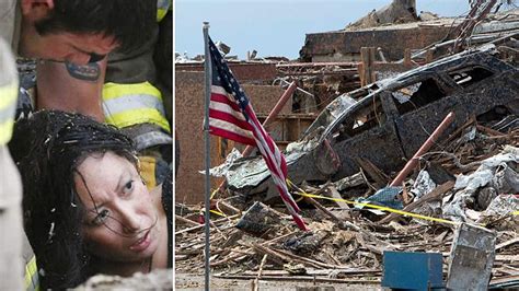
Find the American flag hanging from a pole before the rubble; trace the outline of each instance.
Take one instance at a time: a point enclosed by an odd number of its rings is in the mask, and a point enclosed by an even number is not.
[[[209,38],[209,53],[212,68],[211,98],[209,103],[209,132],[241,143],[255,146],[260,150],[282,201],[293,221],[301,230],[307,230],[298,214],[299,207],[288,193],[285,156],[257,120],[240,84],[232,75],[227,61]]]

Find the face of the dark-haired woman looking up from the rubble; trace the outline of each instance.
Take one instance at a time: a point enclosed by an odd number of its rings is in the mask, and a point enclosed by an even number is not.
[[[161,233],[158,211],[135,166],[106,152],[86,158],[77,172],[88,249],[111,261],[135,263],[152,256]]]

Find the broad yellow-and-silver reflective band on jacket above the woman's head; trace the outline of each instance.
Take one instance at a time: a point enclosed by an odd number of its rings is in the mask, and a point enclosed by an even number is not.
[[[139,124],[158,125],[171,132],[165,119],[162,94],[149,82],[137,84],[105,83],[103,86],[105,121],[118,128]]]

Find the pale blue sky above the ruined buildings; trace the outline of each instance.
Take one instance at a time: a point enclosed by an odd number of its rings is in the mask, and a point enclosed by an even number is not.
[[[305,34],[338,31],[382,8],[391,0],[176,0],[175,51],[194,57],[204,54],[203,22],[208,21],[214,42],[231,47],[229,55],[245,59],[284,56],[297,59]],[[416,10],[440,16],[469,11],[469,0],[416,0]]]

